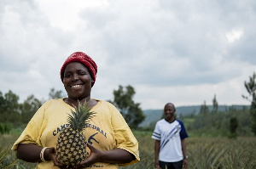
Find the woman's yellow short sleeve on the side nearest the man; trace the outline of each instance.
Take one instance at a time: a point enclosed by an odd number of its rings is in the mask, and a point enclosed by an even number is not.
[[[109,104],[109,109],[112,112],[111,123],[113,127],[116,148],[125,149],[136,157],[136,160],[126,164],[118,164],[119,166],[128,166],[140,161],[138,142],[127,125],[123,115],[117,110],[113,104]]]

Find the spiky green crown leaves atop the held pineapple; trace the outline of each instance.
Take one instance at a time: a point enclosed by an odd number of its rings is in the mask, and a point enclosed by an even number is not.
[[[73,130],[82,132],[96,112],[90,111],[90,105],[86,106],[86,102],[84,104],[79,102],[79,108],[75,105],[73,107],[75,111],[71,110],[72,115],[68,114],[67,121]]]

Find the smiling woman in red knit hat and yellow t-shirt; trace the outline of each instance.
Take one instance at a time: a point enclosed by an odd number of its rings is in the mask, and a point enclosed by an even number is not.
[[[106,101],[91,99],[97,66],[87,54],[71,54],[61,67],[61,82],[67,98],[52,99],[42,105],[13,146],[17,158],[38,162],[37,168],[68,168],[55,158],[55,147],[67,114],[86,103],[96,112],[85,129],[87,157],[76,168],[118,168],[139,161],[138,143],[119,111]],[[40,156],[41,155],[41,156]]]

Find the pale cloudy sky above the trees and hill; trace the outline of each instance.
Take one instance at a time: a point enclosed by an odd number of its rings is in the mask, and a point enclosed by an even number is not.
[[[61,65],[83,51],[98,65],[92,98],[131,85],[143,110],[250,104],[255,30],[254,0],[1,0],[0,91],[65,93]]]

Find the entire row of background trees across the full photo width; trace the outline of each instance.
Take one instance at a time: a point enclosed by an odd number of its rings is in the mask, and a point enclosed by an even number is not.
[[[243,131],[240,132],[247,132],[248,128],[250,128],[253,134],[256,135],[256,74],[253,73],[253,76],[249,76],[249,81],[244,82],[244,85],[248,95],[242,95],[242,97],[251,102],[249,110],[219,112],[218,101],[216,95],[214,95],[211,111],[208,109],[206,102],[204,102],[198,115],[191,114],[190,117],[183,117],[193,120],[189,123],[189,128],[204,132],[229,128],[230,134],[236,136],[236,130],[240,125],[244,127]],[[119,86],[117,90],[113,90],[113,100],[108,100],[117,107],[132,129],[137,129],[139,124],[145,119],[140,104],[135,103],[133,100],[135,93],[135,89],[130,85],[126,87]],[[55,90],[55,88],[50,89],[49,99],[63,97],[62,91]],[[9,131],[9,124],[12,124],[14,127],[26,124],[45,102],[45,100],[35,98],[33,94],[28,96],[21,104],[18,101],[19,96],[11,90],[5,94],[0,91],[0,132]]]

